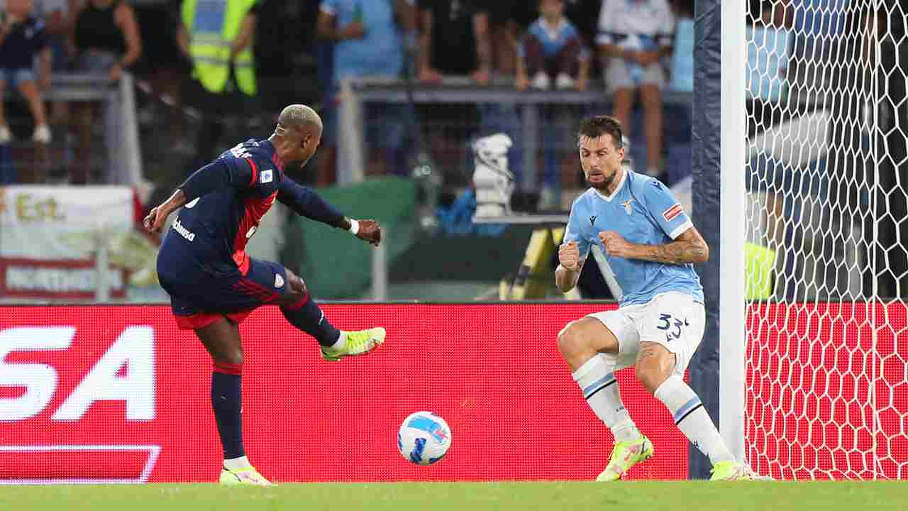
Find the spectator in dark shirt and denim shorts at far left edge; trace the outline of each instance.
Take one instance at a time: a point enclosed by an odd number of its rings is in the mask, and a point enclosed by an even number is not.
[[[50,86],[51,53],[44,23],[30,15],[32,7],[32,0],[6,1],[5,19],[0,22],[0,98],[5,94],[7,85],[18,89],[35,118],[32,139],[39,144],[47,144],[51,140],[51,131],[47,127],[39,88],[46,90]],[[35,55],[39,55],[41,61],[37,81]],[[0,144],[8,144],[11,139],[3,102],[0,101]]]

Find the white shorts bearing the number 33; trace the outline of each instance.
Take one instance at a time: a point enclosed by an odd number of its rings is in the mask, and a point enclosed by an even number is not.
[[[656,343],[676,356],[675,374],[684,376],[690,359],[703,340],[706,310],[694,297],[684,293],[656,295],[646,304],[623,306],[617,310],[597,312],[602,322],[618,340],[617,369],[634,366],[641,342]]]

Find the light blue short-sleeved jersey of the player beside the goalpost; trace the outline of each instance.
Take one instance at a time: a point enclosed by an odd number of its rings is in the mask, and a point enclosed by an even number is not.
[[[580,259],[586,259],[592,245],[603,254],[602,231],[615,231],[639,245],[666,245],[691,228],[675,196],[657,179],[626,170],[611,196],[590,188],[571,207],[565,242],[576,241]],[[703,287],[694,266],[666,265],[606,254],[618,286],[622,306],[645,304],[661,293],[677,291],[703,302]]]

